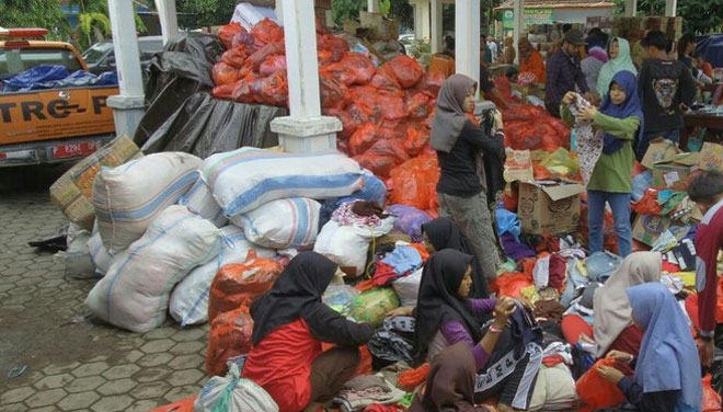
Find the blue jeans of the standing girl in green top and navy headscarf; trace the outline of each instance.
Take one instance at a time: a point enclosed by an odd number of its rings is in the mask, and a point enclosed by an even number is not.
[[[590,254],[602,251],[605,241],[605,204],[612,209],[615,232],[618,234],[618,252],[624,258],[632,251],[632,228],[630,225],[630,193],[587,191],[587,227]]]

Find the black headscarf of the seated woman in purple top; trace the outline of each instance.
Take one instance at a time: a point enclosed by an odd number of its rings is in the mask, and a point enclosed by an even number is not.
[[[414,322],[414,360],[426,360],[429,342],[439,328],[459,321],[474,342],[482,339],[481,325],[468,299],[457,295],[472,256],[454,249],[441,250],[429,258],[422,272]]]

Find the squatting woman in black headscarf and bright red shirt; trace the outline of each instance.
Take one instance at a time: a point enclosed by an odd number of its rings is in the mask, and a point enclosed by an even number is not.
[[[336,394],[357,367],[358,346],[375,332],[321,302],[335,272],[329,259],[299,253],[251,306],[253,348],[243,377],[263,387],[280,412],[298,412]],[[338,347],[322,353],[321,342]]]

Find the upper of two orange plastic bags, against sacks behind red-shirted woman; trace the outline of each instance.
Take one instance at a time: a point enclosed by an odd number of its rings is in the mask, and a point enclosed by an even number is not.
[[[220,313],[251,304],[274,286],[284,267],[272,259],[257,258],[251,250],[243,263],[222,266],[211,282],[208,322]]]

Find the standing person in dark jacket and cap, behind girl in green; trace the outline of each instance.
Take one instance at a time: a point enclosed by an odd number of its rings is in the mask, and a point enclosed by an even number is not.
[[[584,44],[583,33],[573,28],[565,33],[560,50],[548,59],[544,106],[558,118],[560,103],[567,92],[574,92],[577,87],[581,93],[588,93],[585,75],[579,67],[579,47]]]

